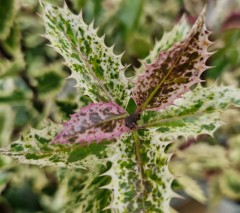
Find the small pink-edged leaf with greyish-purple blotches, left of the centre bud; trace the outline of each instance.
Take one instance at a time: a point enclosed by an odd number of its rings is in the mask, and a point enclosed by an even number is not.
[[[112,102],[94,103],[71,115],[53,143],[100,142],[119,137],[130,131],[125,126],[127,112]]]

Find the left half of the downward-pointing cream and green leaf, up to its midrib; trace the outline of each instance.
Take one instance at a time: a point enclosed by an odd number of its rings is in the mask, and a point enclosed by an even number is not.
[[[142,206],[142,178],[134,151],[132,133],[123,134],[116,143],[109,145],[108,160],[111,169],[103,175],[111,182],[103,188],[112,191],[108,207],[113,212],[140,212]]]

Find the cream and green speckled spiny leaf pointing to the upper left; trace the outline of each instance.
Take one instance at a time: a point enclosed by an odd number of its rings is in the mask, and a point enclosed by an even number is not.
[[[94,24],[84,23],[82,15],[74,15],[41,2],[48,38],[54,49],[72,70],[71,78],[84,88],[84,94],[97,101],[112,101],[125,107],[129,100],[122,55],[115,55],[113,47],[97,36]]]

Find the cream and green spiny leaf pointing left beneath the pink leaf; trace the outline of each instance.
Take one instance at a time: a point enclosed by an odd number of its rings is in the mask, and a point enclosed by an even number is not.
[[[42,130],[31,129],[30,133],[0,153],[16,159],[20,163],[39,166],[80,168],[91,170],[106,163],[106,143],[80,145],[52,145],[50,142],[60,131],[61,125],[46,123]]]

